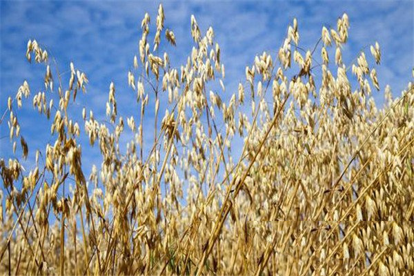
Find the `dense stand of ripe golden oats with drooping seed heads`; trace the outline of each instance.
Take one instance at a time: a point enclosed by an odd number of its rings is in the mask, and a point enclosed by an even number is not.
[[[174,51],[174,30],[162,6],[153,16],[141,21],[128,72],[137,112],[117,114],[111,83],[106,122],[88,107],[83,120],[70,112],[88,95],[88,72],[59,64],[70,72],[63,82],[28,41],[46,90],[25,81],[1,114],[23,155],[0,156],[1,275],[413,275],[414,86],[393,99],[377,79],[378,43],[344,64],[346,14],[321,26],[311,49],[293,19],[279,50],[252,57],[233,92],[213,28],[191,17],[193,49],[172,64],[157,49]],[[46,148],[21,135],[23,104],[48,117]],[[123,145],[126,128],[134,135]],[[90,175],[80,137],[101,154]],[[36,166],[24,170],[29,154]]]

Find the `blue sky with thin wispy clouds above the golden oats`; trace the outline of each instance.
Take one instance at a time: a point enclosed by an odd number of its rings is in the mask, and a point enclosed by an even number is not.
[[[135,103],[135,96],[127,86],[128,69],[137,55],[141,19],[148,12],[154,23],[158,4],[152,1],[1,1],[1,115],[7,98],[15,95],[25,79],[32,95],[44,90],[43,66],[30,64],[25,58],[28,39],[37,39],[46,46],[61,72],[67,71],[73,61],[76,68],[86,73],[90,81],[88,92],[79,95],[75,109],[80,111],[86,106],[87,110],[94,110],[95,117],[105,117],[105,102],[113,81],[119,113],[124,117],[137,115],[136,106],[130,104],[131,99]],[[206,32],[208,26],[215,30],[215,40],[221,46],[222,61],[226,65],[226,91],[233,92],[238,81],[244,80],[245,67],[251,65],[255,55],[266,50],[275,57],[293,17],[299,21],[299,45],[313,48],[322,26],[336,26],[337,18],[346,12],[351,23],[350,39],[343,51],[346,63],[365,46],[375,41],[380,43],[382,64],[377,67],[377,74],[382,92],[375,92],[375,97],[377,103],[382,103],[385,84],[390,84],[393,95],[398,96],[412,80],[413,8],[413,1],[167,1],[164,3],[165,26],[175,32],[177,48],[166,50],[174,66],[186,59],[193,46],[190,15],[195,14],[201,32]],[[371,56],[368,48],[366,54]],[[50,125],[33,110],[31,100],[23,102],[17,115],[32,158],[37,148],[44,150],[46,142],[51,141]],[[83,123],[79,123],[83,130]],[[13,156],[8,133],[7,121],[4,121],[0,125],[0,157],[6,159]],[[97,153],[84,152],[84,157],[86,161],[95,161]],[[17,157],[20,156],[18,151]]]

